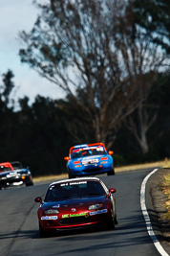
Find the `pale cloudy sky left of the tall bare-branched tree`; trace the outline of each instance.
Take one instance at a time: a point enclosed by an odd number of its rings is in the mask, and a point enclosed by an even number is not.
[[[17,101],[28,96],[30,104],[37,95],[51,99],[64,97],[55,84],[41,78],[28,64],[21,63],[18,55],[23,47],[18,33],[32,30],[37,13],[32,0],[0,0],[0,75],[10,69],[15,84],[12,98]]]

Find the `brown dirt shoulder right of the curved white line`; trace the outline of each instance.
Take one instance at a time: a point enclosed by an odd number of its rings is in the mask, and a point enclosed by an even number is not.
[[[168,197],[163,193],[162,187],[163,176],[169,174],[170,169],[159,169],[158,172],[151,176],[148,191],[151,205],[149,215],[154,231],[160,244],[170,254],[170,221],[163,220],[164,214],[167,213],[164,204],[168,201]]]

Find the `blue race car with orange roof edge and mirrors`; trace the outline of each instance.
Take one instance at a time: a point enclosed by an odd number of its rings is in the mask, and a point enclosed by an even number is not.
[[[103,143],[82,144],[72,147],[67,160],[69,178],[83,175],[115,175],[113,151],[106,151]]]

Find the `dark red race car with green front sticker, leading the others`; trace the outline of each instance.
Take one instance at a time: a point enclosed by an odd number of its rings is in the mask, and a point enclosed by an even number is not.
[[[108,189],[97,177],[81,177],[53,182],[37,210],[40,237],[53,231],[94,224],[115,228],[116,189]]]

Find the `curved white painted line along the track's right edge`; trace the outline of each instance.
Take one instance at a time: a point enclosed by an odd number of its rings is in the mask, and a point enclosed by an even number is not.
[[[161,246],[161,244],[159,244],[159,240],[157,239],[154,230],[152,228],[152,224],[149,218],[149,214],[147,212],[146,209],[146,202],[145,202],[145,198],[146,198],[146,183],[149,179],[149,177],[151,175],[154,175],[159,169],[154,169],[149,175],[145,176],[145,178],[142,181],[141,184],[141,189],[140,189],[140,206],[141,206],[141,211],[144,217],[144,220],[146,222],[146,227],[147,227],[147,231],[149,236],[151,237],[153,243],[155,244],[156,248],[158,249],[159,253],[161,256],[169,256],[169,254],[167,254],[167,252],[163,249],[163,247]]]

